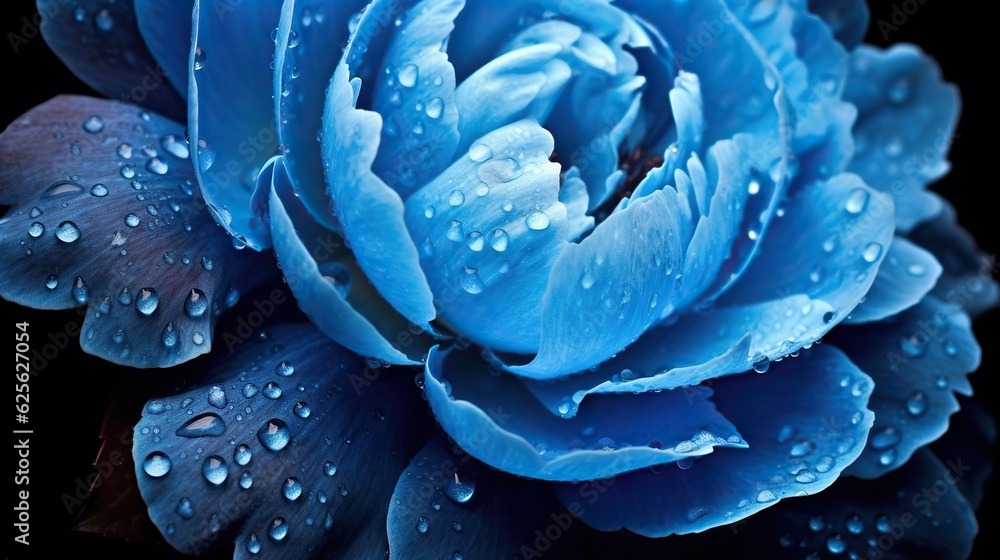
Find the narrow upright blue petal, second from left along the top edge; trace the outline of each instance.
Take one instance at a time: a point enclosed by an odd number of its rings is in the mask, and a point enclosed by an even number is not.
[[[326,189],[317,188],[324,184],[317,131],[321,130],[326,88],[341,56],[340,49],[330,46],[347,42],[346,22],[365,4],[365,0],[319,5],[288,0],[278,23],[274,100],[285,169],[313,219],[333,231],[339,225],[330,198]],[[288,48],[293,42],[296,46]]]

